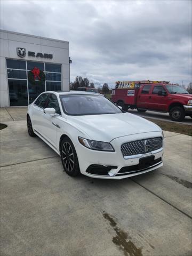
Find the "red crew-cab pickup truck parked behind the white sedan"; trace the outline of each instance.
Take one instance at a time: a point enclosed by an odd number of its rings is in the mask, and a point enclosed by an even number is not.
[[[113,89],[111,100],[125,111],[137,108],[140,112],[169,112],[173,121],[192,118],[192,94],[179,85],[153,83],[136,89],[117,88]]]

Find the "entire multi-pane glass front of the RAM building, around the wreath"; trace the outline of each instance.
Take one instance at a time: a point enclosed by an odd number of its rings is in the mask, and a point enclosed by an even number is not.
[[[59,64],[6,59],[6,65],[10,106],[27,106],[45,89],[46,91],[61,90],[61,65]],[[46,80],[41,85],[30,84],[27,79],[28,71],[34,67],[44,71],[46,75]]]

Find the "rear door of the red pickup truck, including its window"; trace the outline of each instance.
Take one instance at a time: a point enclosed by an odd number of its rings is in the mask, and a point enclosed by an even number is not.
[[[141,87],[138,99],[137,99],[137,107],[149,109],[149,92],[151,89],[151,84],[145,84]]]

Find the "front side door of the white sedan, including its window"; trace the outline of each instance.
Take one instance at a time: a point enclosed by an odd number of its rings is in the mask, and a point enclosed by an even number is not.
[[[57,95],[48,93],[45,108],[54,108],[55,113],[58,114],[58,116],[52,116],[43,113],[43,122],[41,124],[41,132],[43,137],[49,141],[53,147],[56,147],[57,130],[60,128],[60,126],[57,124],[57,118],[61,116]]]

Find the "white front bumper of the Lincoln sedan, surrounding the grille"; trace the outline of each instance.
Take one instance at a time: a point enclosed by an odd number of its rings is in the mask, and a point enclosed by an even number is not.
[[[85,148],[79,143],[76,145],[76,151],[81,173],[93,178],[123,179],[153,171],[163,165],[163,148],[154,151],[153,153],[125,159],[121,152],[121,145],[124,142],[159,136],[162,136],[161,132],[150,132],[114,139],[110,143],[114,147],[115,152],[95,151]],[[146,156],[154,156],[154,161],[156,162],[141,168],[139,165],[140,158]],[[99,172],[97,172],[97,170],[99,170]]]

